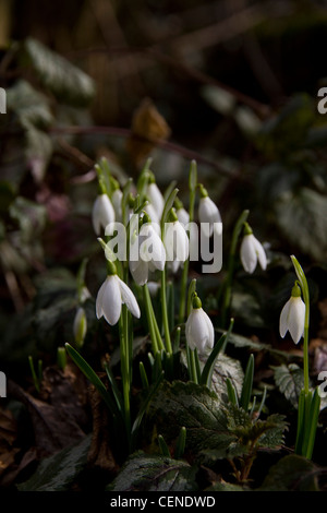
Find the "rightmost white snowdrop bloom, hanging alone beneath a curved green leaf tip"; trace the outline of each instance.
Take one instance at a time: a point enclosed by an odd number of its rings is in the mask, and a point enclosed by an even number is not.
[[[292,288],[290,299],[283,306],[279,319],[279,333],[283,338],[289,331],[294,344],[298,344],[304,332],[305,305],[301,299],[298,284]]]

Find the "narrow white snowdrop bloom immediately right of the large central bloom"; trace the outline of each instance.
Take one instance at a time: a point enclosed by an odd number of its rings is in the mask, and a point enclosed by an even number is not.
[[[164,243],[167,261],[172,262],[173,270],[177,271],[180,263],[189,258],[189,237],[173,208],[170,211],[168,223],[165,224]]]

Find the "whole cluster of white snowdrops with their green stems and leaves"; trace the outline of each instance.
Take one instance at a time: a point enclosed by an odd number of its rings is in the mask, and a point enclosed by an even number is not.
[[[135,184],[132,179],[121,187],[112,176],[108,162],[102,158],[95,166],[99,193],[94,202],[92,220],[95,234],[105,253],[107,277],[96,298],[96,315],[109,325],[119,325],[121,360],[121,389],[107,367],[112,394],[108,395],[96,373],[89,368],[76,348],[81,348],[87,331],[83,302],[88,297],[86,286],[81,288],[80,307],[74,320],[75,347],[66,344],[66,350],[87,378],[96,385],[111,414],[120,417],[120,428],[126,442],[133,443],[133,433],[142,421],[142,411],[136,419],[131,415],[131,386],[133,363],[133,318],[145,314],[152,345],[149,359],[156,372],[149,377],[141,362],[140,374],[144,387],[152,393],[162,375],[173,374],[173,355],[179,348],[181,331],[184,330],[186,361],[190,381],[210,386],[213,368],[219,350],[226,344],[232,329],[229,318],[233,262],[238,256],[244,271],[253,273],[257,265],[267,267],[264,246],[254,236],[247,223],[249,211],[242,212],[232,234],[228,272],[223,286],[222,319],[229,323],[226,333],[215,339],[215,329],[202,306],[196,291],[196,281],[189,278],[190,261],[199,256],[214,262],[206,272],[221,269],[222,220],[219,208],[207,190],[197,181],[196,163],[192,162],[189,174],[187,207],[179,198],[179,190],[171,183],[162,193],[154,172],[152,160],[147,160]],[[209,248],[214,248],[210,252]],[[295,451],[311,457],[319,413],[319,395],[308,387],[308,290],[304,272],[295,256],[291,256],[296,278],[290,299],[280,314],[280,335],[290,333],[295,344],[303,337],[304,387],[299,398],[298,433]],[[179,309],[171,314],[168,308],[168,275],[179,276]],[[142,309],[133,288],[142,294]],[[161,318],[155,314],[152,295],[160,294]],[[303,298],[303,299],[302,299]],[[201,369],[199,358],[205,361]],[[153,383],[150,383],[153,380]],[[152,387],[150,387],[152,385]],[[229,383],[230,385],[230,383]],[[237,392],[227,387],[231,401]]]

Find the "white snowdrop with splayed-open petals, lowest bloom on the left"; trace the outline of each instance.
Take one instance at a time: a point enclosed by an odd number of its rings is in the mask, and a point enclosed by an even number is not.
[[[117,275],[116,265],[108,262],[108,276],[99,288],[96,300],[97,318],[104,315],[110,325],[117,324],[123,303],[135,318],[140,319],[141,311],[134,294]]]

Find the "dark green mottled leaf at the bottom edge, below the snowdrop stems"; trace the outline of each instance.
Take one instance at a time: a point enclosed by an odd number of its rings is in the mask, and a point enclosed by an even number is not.
[[[106,491],[195,491],[196,467],[143,452],[132,454]]]

